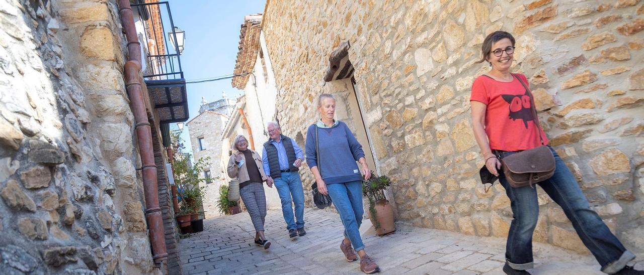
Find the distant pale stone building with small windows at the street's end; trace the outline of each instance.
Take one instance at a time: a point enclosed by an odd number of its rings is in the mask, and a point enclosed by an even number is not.
[[[213,177],[213,182],[206,184],[205,182],[200,186],[205,186],[206,197],[204,198],[204,211],[205,217],[219,216],[219,208],[217,208],[217,200],[219,199],[219,188],[226,181],[222,179],[215,179],[225,172],[225,166],[220,165],[222,158],[222,132],[228,118],[218,112],[204,111],[193,120],[188,121],[188,130],[190,132],[190,143],[192,143],[194,161],[202,157],[210,157],[210,173]],[[200,150],[199,138],[204,138],[205,149]],[[204,177],[204,173],[200,175]]]

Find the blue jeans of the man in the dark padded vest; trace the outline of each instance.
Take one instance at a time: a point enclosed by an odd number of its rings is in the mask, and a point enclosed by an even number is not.
[[[304,227],[304,191],[302,180],[298,172],[282,172],[281,177],[274,179],[275,188],[278,190],[279,200],[282,202],[282,215],[286,222],[287,229],[298,229]],[[292,199],[291,199],[292,198]],[[293,206],[295,204],[295,222],[293,218]]]

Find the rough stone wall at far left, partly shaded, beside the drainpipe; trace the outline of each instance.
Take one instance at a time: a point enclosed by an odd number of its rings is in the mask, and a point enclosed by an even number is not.
[[[0,4],[4,272],[159,272],[115,2]]]

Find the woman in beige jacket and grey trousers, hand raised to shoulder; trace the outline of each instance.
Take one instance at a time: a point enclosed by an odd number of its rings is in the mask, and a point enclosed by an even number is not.
[[[261,164],[260,154],[248,148],[248,141],[242,135],[235,137],[231,147],[234,151],[228,161],[228,175],[240,181],[240,197],[255,227],[255,244],[269,249],[270,242],[264,236],[266,195],[262,184],[267,177]],[[267,185],[272,188],[273,184],[267,182]]]

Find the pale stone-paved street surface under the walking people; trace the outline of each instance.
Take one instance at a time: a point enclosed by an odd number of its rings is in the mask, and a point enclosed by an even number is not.
[[[272,245],[264,251],[253,242],[248,213],[205,220],[203,232],[180,242],[184,274],[363,274],[359,261],[346,262],[339,249],[343,226],[336,213],[306,209],[305,222],[307,235],[290,240],[281,211],[269,210],[265,226]],[[503,274],[503,238],[404,224],[379,237],[365,222],[366,251],[383,274]],[[592,256],[538,243],[534,251],[533,274],[603,274]]]

